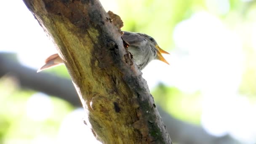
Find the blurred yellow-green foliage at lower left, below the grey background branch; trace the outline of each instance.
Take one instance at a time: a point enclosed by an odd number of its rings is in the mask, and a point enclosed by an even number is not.
[[[15,144],[42,135],[55,139],[60,122],[73,109],[67,101],[49,97],[51,115],[43,121],[33,120],[27,114],[27,101],[37,92],[20,89],[15,79],[8,76],[0,79],[0,92],[0,144]]]

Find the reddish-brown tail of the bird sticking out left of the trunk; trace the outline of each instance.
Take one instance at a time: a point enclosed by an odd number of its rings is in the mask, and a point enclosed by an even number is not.
[[[41,72],[42,70],[48,69],[48,68],[51,68],[51,67],[55,67],[59,64],[63,64],[63,60],[59,57],[58,53],[55,53],[55,54],[49,56],[45,60],[45,64],[43,65],[43,67],[38,69],[37,72]]]

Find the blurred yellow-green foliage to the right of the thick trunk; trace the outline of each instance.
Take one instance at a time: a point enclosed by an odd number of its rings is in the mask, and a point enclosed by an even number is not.
[[[124,21],[124,30],[147,33],[157,40],[161,48],[168,51],[175,46],[173,30],[176,25],[188,19],[192,14],[208,11],[221,19],[229,29],[238,32],[243,39],[245,70],[240,93],[251,96],[251,101],[255,101],[256,51],[252,47],[253,42],[248,40],[248,33],[251,35],[251,29],[247,27],[251,26],[250,22],[256,21],[256,0],[248,2],[227,0],[229,2],[227,13],[219,13],[218,6],[221,4],[210,5],[212,3],[209,4],[209,1],[214,0],[129,0],[117,3],[120,5],[118,14]],[[152,95],[157,104],[175,117],[200,124],[202,112],[200,91],[184,93],[177,88],[169,88],[160,84],[152,90]]]

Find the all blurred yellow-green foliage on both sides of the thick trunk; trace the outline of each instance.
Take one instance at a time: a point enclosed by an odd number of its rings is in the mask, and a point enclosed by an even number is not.
[[[119,5],[117,14],[124,21],[123,30],[147,33],[167,51],[171,51],[175,46],[173,30],[176,25],[193,13],[208,11],[221,19],[245,39],[245,70],[240,93],[251,96],[250,99],[255,101],[256,52],[252,48],[253,42],[247,40],[249,32],[246,29],[250,21],[256,20],[255,0],[229,0],[229,11],[222,14],[218,12],[218,7],[209,8],[212,5],[208,5],[207,1],[209,0],[116,0],[116,3]],[[49,69],[48,72],[69,77],[64,66]],[[200,91],[185,93],[177,88],[159,84],[151,92],[156,103],[176,118],[200,124]],[[20,89],[11,79],[0,79],[0,144],[12,139],[33,139],[40,134],[56,137],[61,120],[73,107],[61,99],[51,98],[53,115],[44,121],[31,120],[26,114],[26,104],[34,93],[36,92]]]

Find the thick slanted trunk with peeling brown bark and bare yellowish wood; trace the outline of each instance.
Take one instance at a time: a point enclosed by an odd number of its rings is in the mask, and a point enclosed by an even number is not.
[[[99,0],[23,1],[53,38],[99,141],[171,143],[146,81]]]

